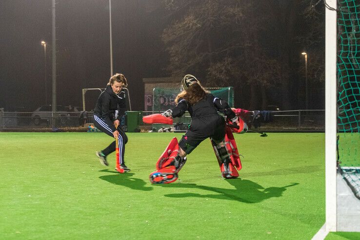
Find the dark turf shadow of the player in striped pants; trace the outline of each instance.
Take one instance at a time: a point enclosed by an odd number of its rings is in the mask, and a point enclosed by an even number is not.
[[[100,172],[111,172],[111,173],[116,173],[114,175],[105,175],[105,176],[100,176],[99,178],[102,180],[105,180],[109,183],[112,184],[116,184],[116,185],[121,185],[121,186],[126,186],[129,187],[131,189],[134,190],[140,190],[140,191],[151,191],[153,190],[152,186],[145,186],[146,183],[144,180],[139,179],[139,178],[133,178],[133,176],[135,175],[135,173],[123,173],[120,174],[116,171],[110,171],[110,170],[101,170]]]

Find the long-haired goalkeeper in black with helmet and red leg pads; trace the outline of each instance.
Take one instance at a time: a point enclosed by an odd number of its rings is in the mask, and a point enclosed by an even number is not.
[[[218,111],[223,113],[232,123],[239,124],[238,116],[231,110],[228,103],[204,90],[199,80],[190,74],[185,75],[181,80],[181,92],[177,95],[175,103],[175,108],[163,112],[162,115],[170,118],[181,117],[185,111],[189,111],[192,120],[185,135],[183,135],[179,141],[179,152],[173,156],[174,160],[172,163],[165,164],[159,160],[157,164],[158,169],[165,168],[166,166],[174,166],[173,172],[175,172],[175,174],[163,174],[163,171],[160,171],[160,169],[158,172],[150,174],[150,181],[152,183],[171,183],[176,181],[176,173],[180,171],[186,162],[185,156],[190,154],[207,138],[211,139],[214,149],[216,148],[219,151],[220,160],[225,161],[226,156],[228,157],[224,144],[226,123]],[[173,139],[173,141],[175,140],[176,138]],[[169,147],[178,144],[177,142],[172,142],[169,144]],[[165,150],[164,154],[166,154],[166,151],[174,152],[173,149],[169,147]],[[219,160],[218,155],[219,154],[217,154]],[[169,158],[171,157],[169,156]],[[226,170],[221,171],[225,178],[234,178],[234,176]]]

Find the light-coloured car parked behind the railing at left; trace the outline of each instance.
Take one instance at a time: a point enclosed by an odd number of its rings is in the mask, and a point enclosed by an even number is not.
[[[56,107],[56,117],[67,117],[69,115],[69,112],[79,112],[77,107],[72,106],[61,106],[57,105]],[[33,111],[31,114],[31,118],[33,120],[33,123],[35,125],[40,125],[43,122],[50,122],[51,120],[51,112],[52,112],[52,106],[51,105],[45,105],[39,107],[37,110]]]

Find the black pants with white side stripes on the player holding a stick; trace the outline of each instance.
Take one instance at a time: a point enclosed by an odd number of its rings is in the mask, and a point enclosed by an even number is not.
[[[102,132],[106,133],[110,137],[114,138],[113,132],[109,128],[109,126],[105,123],[105,121],[94,114],[94,124],[95,127],[100,129]],[[119,164],[123,164],[124,162],[124,154],[125,154],[125,144],[127,143],[127,136],[125,132],[121,129],[120,126],[118,126],[119,131]],[[106,155],[109,155],[110,153],[114,152],[116,149],[116,141],[112,142],[107,148],[102,150],[102,153]]]

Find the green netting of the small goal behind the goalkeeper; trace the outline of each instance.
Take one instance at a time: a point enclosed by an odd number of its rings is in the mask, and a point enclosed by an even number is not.
[[[230,107],[234,107],[234,89],[227,88],[206,88],[214,96],[227,101]],[[166,111],[175,106],[175,98],[180,93],[178,88],[154,88],[153,111]]]

